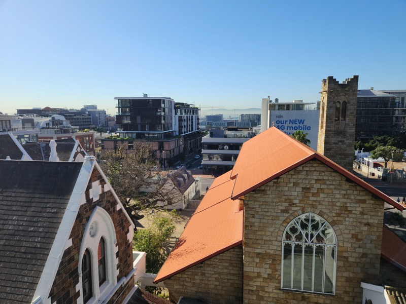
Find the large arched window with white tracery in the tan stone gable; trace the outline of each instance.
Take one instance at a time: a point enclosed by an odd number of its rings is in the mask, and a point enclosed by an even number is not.
[[[304,213],[286,227],[282,240],[282,288],[334,294],[337,241],[330,224]]]

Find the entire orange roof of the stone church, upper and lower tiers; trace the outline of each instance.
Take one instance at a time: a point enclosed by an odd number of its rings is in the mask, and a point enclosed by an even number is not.
[[[312,159],[321,161],[395,208],[404,209],[375,187],[272,127],[245,142],[232,171],[214,180],[154,282],[242,244],[243,212],[239,212],[238,198]]]

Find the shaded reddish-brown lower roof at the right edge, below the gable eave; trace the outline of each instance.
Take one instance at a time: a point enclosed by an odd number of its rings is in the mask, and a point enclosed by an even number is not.
[[[406,244],[384,225],[382,231],[381,255],[388,262],[406,271]]]

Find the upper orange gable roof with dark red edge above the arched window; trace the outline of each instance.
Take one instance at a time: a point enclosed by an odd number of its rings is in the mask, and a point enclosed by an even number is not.
[[[276,127],[267,129],[243,144],[230,174],[230,178],[235,179],[231,198],[238,199],[313,159],[319,160],[349,178],[396,209],[404,210],[401,204],[398,204],[377,188]]]

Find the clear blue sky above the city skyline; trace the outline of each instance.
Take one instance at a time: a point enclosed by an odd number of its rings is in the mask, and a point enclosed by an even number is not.
[[[321,81],[406,89],[406,1],[0,0],[0,111],[114,97],[260,107]]]

